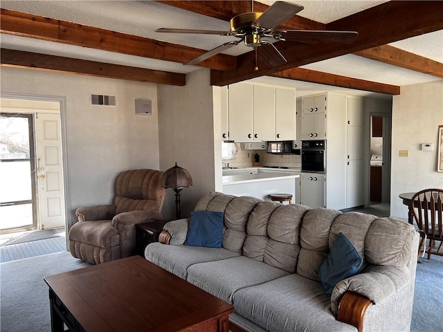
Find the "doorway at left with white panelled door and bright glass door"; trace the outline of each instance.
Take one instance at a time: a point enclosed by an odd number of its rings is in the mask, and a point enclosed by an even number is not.
[[[60,110],[1,99],[0,234],[66,228]]]

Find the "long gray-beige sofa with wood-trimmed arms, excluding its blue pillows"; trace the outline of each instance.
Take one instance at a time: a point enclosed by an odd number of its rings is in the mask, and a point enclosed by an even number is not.
[[[145,249],[154,264],[233,304],[232,331],[409,331],[419,236],[412,225],[357,212],[211,192],[196,211],[223,212],[222,248],[185,246],[188,219]],[[339,233],[363,257],[325,293],[318,268]]]

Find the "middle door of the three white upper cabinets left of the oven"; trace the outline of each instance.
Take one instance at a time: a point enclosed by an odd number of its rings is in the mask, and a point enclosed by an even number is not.
[[[253,85],[253,140],[275,140],[275,88]]]

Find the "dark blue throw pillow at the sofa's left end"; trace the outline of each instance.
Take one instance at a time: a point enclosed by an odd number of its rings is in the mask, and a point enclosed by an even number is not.
[[[221,248],[223,212],[192,211],[185,246]]]

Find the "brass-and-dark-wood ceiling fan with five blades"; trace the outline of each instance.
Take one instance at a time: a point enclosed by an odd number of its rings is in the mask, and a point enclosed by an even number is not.
[[[253,1],[252,1],[253,3]],[[234,36],[239,40],[224,43],[208,52],[191,59],[184,64],[198,64],[218,53],[237,46],[240,42],[255,50],[255,70],[257,68],[257,55],[269,66],[281,66],[287,60],[280,51],[264,38],[269,37],[282,42],[315,43],[352,43],[358,36],[355,31],[332,31],[332,30],[274,30],[279,24],[286,21],[303,6],[284,1],[275,1],[264,12],[244,12],[230,19],[229,31],[217,30],[193,30],[179,28],[159,28],[157,33],[191,33],[201,35]],[[253,10],[253,5],[252,5]],[[272,40],[272,39],[271,39]],[[260,47],[259,47],[260,46]]]

